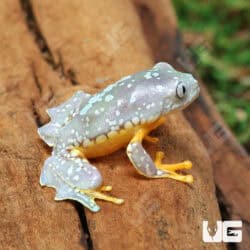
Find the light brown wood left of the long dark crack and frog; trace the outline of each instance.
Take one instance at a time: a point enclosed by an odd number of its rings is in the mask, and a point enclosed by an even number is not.
[[[20,2],[0,9],[0,249],[84,249],[74,206],[51,202],[54,192],[39,185],[49,151],[37,136],[36,103],[70,84],[44,62]]]

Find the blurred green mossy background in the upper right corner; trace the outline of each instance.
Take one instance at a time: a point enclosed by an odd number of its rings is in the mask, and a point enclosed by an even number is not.
[[[218,110],[250,151],[250,1],[173,0],[184,42]]]

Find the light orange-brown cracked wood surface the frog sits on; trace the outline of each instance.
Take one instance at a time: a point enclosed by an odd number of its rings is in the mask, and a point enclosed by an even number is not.
[[[173,18],[168,2],[157,4]],[[142,178],[120,150],[93,163],[122,206],[99,201],[93,214],[39,186],[51,151],[36,133],[45,109],[153,64],[157,39],[148,40],[133,2],[3,0],[0,10],[0,248],[224,249],[202,242],[202,221],[220,214],[209,155],[182,114],[154,132],[158,146],[145,147],[152,156],[165,151],[168,162],[192,160],[193,185]]]

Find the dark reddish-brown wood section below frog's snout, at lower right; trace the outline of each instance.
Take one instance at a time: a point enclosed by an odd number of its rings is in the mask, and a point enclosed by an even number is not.
[[[243,241],[237,248],[250,249],[249,156],[217,113],[205,88],[185,115],[212,160],[222,218],[243,222]]]

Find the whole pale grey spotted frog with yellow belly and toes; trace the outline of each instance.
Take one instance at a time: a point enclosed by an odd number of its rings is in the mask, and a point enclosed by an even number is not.
[[[164,124],[169,114],[192,103],[199,91],[192,74],[166,62],[125,76],[93,95],[77,91],[47,109],[50,121],[38,129],[42,140],[53,148],[40,184],[56,189],[55,200],[74,200],[92,212],[100,210],[96,199],[122,204],[123,199],[107,193],[112,186],[103,185],[100,171],[90,160],[124,147],[131,165],[145,178],[191,184],[193,176],[178,171],[190,169],[191,161],[163,163],[162,151],[153,160],[142,143],[157,143],[159,139],[150,132]]]

